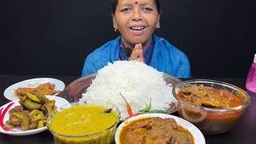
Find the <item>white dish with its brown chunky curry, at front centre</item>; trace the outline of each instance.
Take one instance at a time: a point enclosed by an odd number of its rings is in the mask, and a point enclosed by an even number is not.
[[[186,134],[188,134],[187,137]],[[116,144],[130,141],[137,143],[206,143],[202,132],[196,126],[170,114],[141,114],[128,118],[118,126],[114,141]]]

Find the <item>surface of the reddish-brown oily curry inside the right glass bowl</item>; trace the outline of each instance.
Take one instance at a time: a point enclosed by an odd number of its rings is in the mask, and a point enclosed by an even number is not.
[[[187,84],[179,91],[178,97],[196,106],[210,108],[230,108],[242,106],[242,99],[225,90],[217,90],[203,85]]]

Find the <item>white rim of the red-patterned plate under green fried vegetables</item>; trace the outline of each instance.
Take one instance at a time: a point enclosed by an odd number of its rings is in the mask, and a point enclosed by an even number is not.
[[[51,97],[51,98],[49,98],[49,99],[54,99],[55,101],[56,101],[57,99],[61,99],[61,101],[66,102],[66,103],[63,104],[63,105],[66,105],[66,104],[69,104],[69,103],[70,103],[70,102],[68,102],[65,98],[62,98],[62,97],[58,97],[58,96],[54,96],[54,95],[51,95],[51,96],[49,96],[49,97]],[[8,102],[8,103],[6,103],[6,104],[0,106],[0,109],[4,110],[4,109],[6,108],[6,106],[10,105],[10,103],[14,103],[12,106],[10,106],[10,109],[13,108],[14,106],[18,106],[18,105],[19,105],[18,100],[15,100],[15,101],[11,101],[11,102]],[[18,105],[17,105],[17,104],[18,104]],[[63,106],[63,105],[62,105],[62,106]],[[10,109],[9,109],[9,110],[10,110]],[[8,113],[9,110],[7,110],[6,113]],[[5,116],[6,116],[6,114],[4,115],[3,121],[4,121],[4,119],[5,119]],[[3,123],[6,123],[6,122],[3,122]],[[26,130],[26,131],[6,131],[6,130],[3,130],[2,127],[0,126],[0,133],[2,133],[2,134],[9,134],[9,135],[30,135],[30,134],[38,134],[38,133],[40,133],[40,132],[42,132],[42,131],[45,131],[45,130],[47,130],[47,127],[46,127],[46,126],[43,126],[42,128],[38,128],[38,129],[34,129],[34,130]]]

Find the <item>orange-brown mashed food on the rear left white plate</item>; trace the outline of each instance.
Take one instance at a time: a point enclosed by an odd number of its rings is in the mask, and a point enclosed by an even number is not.
[[[42,95],[54,95],[58,94],[59,90],[54,90],[55,85],[52,83],[43,83],[40,84],[38,87],[35,88],[26,88],[26,87],[19,87],[15,90],[15,94],[18,97],[26,96],[26,92],[31,94],[42,94]]]

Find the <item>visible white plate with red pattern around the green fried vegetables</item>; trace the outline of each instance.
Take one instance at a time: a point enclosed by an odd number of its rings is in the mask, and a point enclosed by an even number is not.
[[[67,102],[66,99],[64,98],[60,98],[60,97],[57,97],[57,96],[48,96],[47,98],[49,99],[54,99],[55,100],[55,105],[57,107],[61,107],[61,106],[64,106],[66,104],[69,104],[70,102]],[[13,103],[13,105],[11,105]],[[11,105],[11,106],[10,106]],[[6,109],[7,106],[10,106],[9,109]],[[6,123],[6,121],[10,118],[10,114],[9,114],[9,110],[14,108],[14,106],[20,106],[20,104],[18,103],[18,100],[14,101],[14,102],[9,102],[9,103],[6,103],[4,106],[1,106],[0,107],[0,111],[1,111],[1,114],[0,114],[0,120],[3,118],[3,124]],[[7,110],[6,111],[6,114],[5,115],[2,115],[3,113],[3,110]],[[1,123],[1,122],[0,122]],[[26,131],[23,131],[21,130],[20,128],[14,128],[12,130],[3,130],[2,129],[2,126],[0,126],[0,132],[3,133],[3,134],[10,134],[10,135],[30,135],[30,134],[38,134],[44,130],[47,130],[46,126],[42,127],[42,128],[39,128],[39,129],[35,129],[35,130],[26,130]]]

